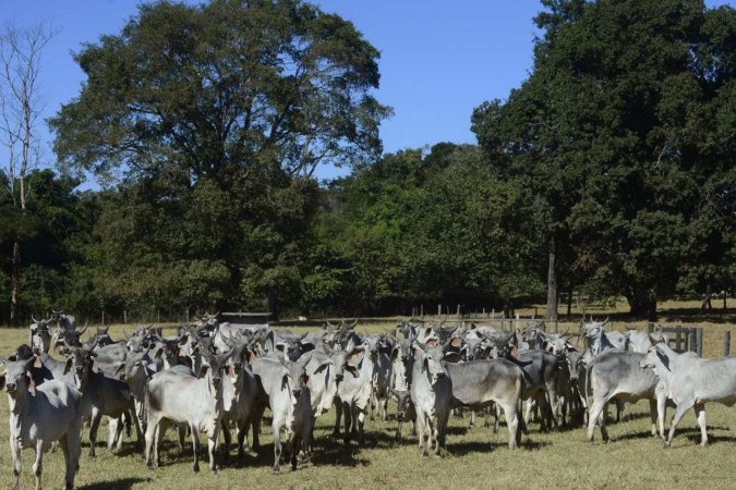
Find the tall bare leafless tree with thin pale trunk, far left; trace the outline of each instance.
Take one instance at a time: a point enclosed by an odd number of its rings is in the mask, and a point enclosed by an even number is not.
[[[53,28],[39,23],[23,28],[7,23],[0,30],[0,142],[5,150],[2,172],[5,189],[16,213],[11,271],[10,323],[19,320],[22,221],[28,203],[27,177],[40,158],[36,124],[43,109],[38,75],[44,48]]]

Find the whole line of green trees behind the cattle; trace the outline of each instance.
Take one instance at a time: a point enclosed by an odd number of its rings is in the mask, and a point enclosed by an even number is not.
[[[0,197],[0,314],[407,314],[559,293],[654,318],[736,279],[736,12],[542,0],[476,145],[382,155],[378,51],[298,0],[159,1],[75,60],[58,171]],[[470,109],[470,108],[469,108]],[[319,164],[349,166],[319,183]],[[84,172],[102,187],[75,191]],[[13,175],[2,175],[11,188]],[[20,244],[16,267],[13,246]]]

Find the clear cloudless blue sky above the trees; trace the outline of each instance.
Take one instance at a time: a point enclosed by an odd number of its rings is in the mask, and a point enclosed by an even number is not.
[[[1,0],[0,20],[60,28],[47,47],[41,89],[49,117],[74,98],[83,73],[72,60],[84,42],[118,34],[137,12],[131,0]],[[395,115],[381,131],[385,151],[438,142],[474,143],[474,107],[504,99],[532,65],[539,0],[323,0],[324,11],[351,21],[382,53],[378,100]],[[732,2],[708,0],[708,7]],[[52,161],[50,135],[47,160]],[[0,154],[2,155],[2,154]],[[4,156],[4,155],[3,155]],[[328,179],[347,169],[323,168]],[[89,185],[89,184],[87,184]],[[93,184],[94,185],[94,184]]]

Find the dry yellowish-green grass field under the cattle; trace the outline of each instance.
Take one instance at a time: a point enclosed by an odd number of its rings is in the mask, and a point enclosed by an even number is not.
[[[675,305],[671,308],[677,311]],[[591,313],[606,315],[606,311]],[[736,322],[729,316],[691,321],[696,319],[696,314],[686,314],[684,323],[704,329],[705,357],[720,355],[723,331],[736,330]],[[623,320],[614,322],[614,328],[618,330],[628,326]],[[641,328],[643,323],[638,326]],[[565,328],[565,324],[560,328]],[[371,332],[382,329],[385,327],[359,327],[359,330]],[[119,338],[122,328],[116,326],[110,329],[110,333]],[[0,354],[8,355],[23,342],[27,342],[26,330],[0,332]],[[530,424],[530,434],[523,437],[522,446],[515,451],[506,446],[507,433],[503,425],[499,433],[494,434],[491,429],[482,427],[482,419],[476,427],[468,429],[467,417],[451,418],[448,454],[441,460],[422,460],[415,439],[408,434],[408,427],[405,427],[405,439],[395,441],[394,420],[366,420],[366,444],[362,448],[354,443],[345,446],[341,440],[330,436],[334,421],[334,414],[330,413],[317,419],[312,461],[300,464],[293,473],[288,465],[282,465],[280,475],[272,474],[273,444],[266,421],[261,453],[249,453],[243,465],[237,464],[234,457],[230,463],[219,457],[220,470],[214,475],[206,469],[197,475],[192,474],[191,444],[184,455],[179,456],[173,444],[173,431],[169,431],[171,440],[165,446],[162,466],[157,470],[145,468],[131,440],[125,441],[121,455],[112,455],[107,449],[100,449],[96,458],[87,458],[84,450],[88,445],[85,428],[76,485],[85,489],[736,488],[736,432],[733,430],[736,428],[736,408],[711,404],[707,409],[709,446],[697,445],[699,430],[690,413],[680,422],[673,446],[666,450],[659,439],[649,434],[647,403],[627,405],[625,421],[610,427],[613,439],[610,443],[600,442],[600,431],[595,434],[596,442],[590,444],[586,442],[581,428],[545,434],[539,431],[538,425]],[[389,413],[394,412],[395,405],[389,404]],[[7,417],[8,404],[0,402],[0,419],[7,420]],[[671,413],[667,414],[669,417]],[[98,440],[106,440],[106,437],[107,426],[102,424]],[[7,438],[8,426],[2,422],[0,440]],[[234,456],[234,451],[231,454]],[[206,458],[204,453],[203,456]],[[33,488],[32,463],[33,451],[24,451],[23,488]],[[206,466],[203,465],[203,468]],[[47,454],[44,461],[45,487],[59,488],[62,480],[63,456],[60,452]],[[7,449],[0,450],[0,486],[10,485],[11,481],[10,453]]]

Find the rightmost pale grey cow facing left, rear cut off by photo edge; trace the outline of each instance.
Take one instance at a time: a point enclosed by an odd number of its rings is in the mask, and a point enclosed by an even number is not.
[[[736,403],[736,355],[703,359],[692,352],[677,354],[667,344],[657,343],[649,348],[640,366],[654,370],[662,380],[663,392],[677,404],[665,446],[672,443],[677,424],[690,408],[698,417],[700,445],[708,444],[705,402],[726,406]]]

